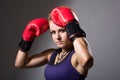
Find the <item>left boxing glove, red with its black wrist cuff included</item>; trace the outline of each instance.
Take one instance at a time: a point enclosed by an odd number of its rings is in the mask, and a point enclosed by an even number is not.
[[[35,37],[48,30],[48,21],[45,18],[31,20],[24,29],[22,40],[19,43],[22,51],[28,51]]]

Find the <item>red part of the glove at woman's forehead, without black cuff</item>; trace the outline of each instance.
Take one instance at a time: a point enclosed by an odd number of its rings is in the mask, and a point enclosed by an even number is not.
[[[66,26],[70,21],[75,20],[71,9],[68,7],[60,6],[52,10],[50,19],[58,26]]]

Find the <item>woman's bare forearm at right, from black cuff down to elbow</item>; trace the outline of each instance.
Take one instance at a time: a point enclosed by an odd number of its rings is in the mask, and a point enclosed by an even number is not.
[[[73,41],[75,53],[78,61],[85,68],[90,68],[93,65],[93,57],[89,48],[88,42],[85,38],[79,37]]]

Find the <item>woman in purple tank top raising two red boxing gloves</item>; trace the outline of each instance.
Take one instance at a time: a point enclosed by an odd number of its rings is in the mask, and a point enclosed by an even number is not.
[[[49,30],[58,49],[28,56],[34,38],[48,29],[46,19],[32,20],[23,32],[15,66],[31,68],[48,64],[45,68],[46,80],[85,80],[88,70],[93,66],[93,57],[86,34],[78,22],[69,7],[54,8],[49,15]]]

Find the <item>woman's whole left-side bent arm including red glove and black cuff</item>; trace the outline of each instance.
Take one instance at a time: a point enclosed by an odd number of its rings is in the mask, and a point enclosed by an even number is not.
[[[28,51],[34,39],[47,31],[47,29],[48,21],[45,18],[33,19],[26,25],[19,43],[19,50],[15,61],[16,67],[34,67],[47,63],[51,50],[47,50],[43,54],[28,56]]]

